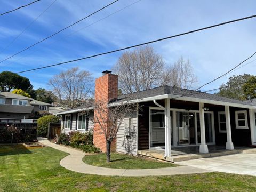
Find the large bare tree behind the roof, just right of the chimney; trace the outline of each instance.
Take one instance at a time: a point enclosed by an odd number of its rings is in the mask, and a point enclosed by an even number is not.
[[[151,89],[159,85],[164,72],[164,61],[150,46],[125,52],[113,67],[118,75],[118,86],[123,93]]]

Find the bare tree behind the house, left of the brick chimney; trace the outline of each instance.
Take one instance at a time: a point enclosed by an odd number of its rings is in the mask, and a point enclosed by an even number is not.
[[[93,77],[89,71],[75,67],[54,75],[49,84],[61,105],[75,108],[92,93]]]

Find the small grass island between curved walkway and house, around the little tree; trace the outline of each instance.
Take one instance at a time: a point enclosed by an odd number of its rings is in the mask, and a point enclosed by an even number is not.
[[[111,153],[111,162],[106,162],[106,154],[86,155],[83,162],[89,165],[116,168],[116,169],[154,169],[177,166],[173,163],[160,162],[146,157],[133,157],[131,155]]]

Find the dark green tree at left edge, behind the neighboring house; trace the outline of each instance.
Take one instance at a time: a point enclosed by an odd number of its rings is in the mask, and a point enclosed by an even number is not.
[[[10,92],[13,89],[27,91],[28,89],[33,89],[33,86],[28,78],[12,73],[11,71],[0,73],[0,91]]]

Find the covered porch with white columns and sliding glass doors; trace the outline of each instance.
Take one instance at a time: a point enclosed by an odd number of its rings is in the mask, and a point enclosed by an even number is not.
[[[254,106],[172,95],[140,105],[139,155],[175,162],[239,153],[256,143]]]

